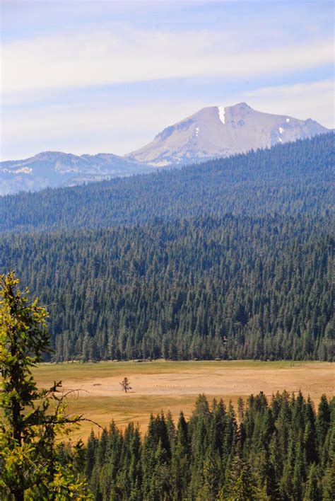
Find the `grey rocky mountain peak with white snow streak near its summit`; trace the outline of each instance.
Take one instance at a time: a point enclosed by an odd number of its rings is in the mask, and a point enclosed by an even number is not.
[[[151,143],[127,158],[155,167],[194,163],[325,132],[329,129],[310,118],[298,120],[288,115],[261,113],[246,103],[212,106],[166,127]]]

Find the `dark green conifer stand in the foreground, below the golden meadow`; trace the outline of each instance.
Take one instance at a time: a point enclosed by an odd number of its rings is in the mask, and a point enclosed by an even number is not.
[[[151,416],[146,436],[112,423],[88,440],[86,471],[95,500],[332,501],[335,496],[335,399],[318,411],[301,393],[264,393],[235,410],[196,401],[175,424]],[[69,461],[66,447],[59,454]]]

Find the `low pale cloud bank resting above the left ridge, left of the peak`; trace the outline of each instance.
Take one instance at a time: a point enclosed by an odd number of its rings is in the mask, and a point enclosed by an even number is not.
[[[20,159],[39,151],[73,154],[127,154],[150,142],[160,130],[192,115],[205,103],[151,100],[141,103],[45,105],[8,113],[1,159]]]

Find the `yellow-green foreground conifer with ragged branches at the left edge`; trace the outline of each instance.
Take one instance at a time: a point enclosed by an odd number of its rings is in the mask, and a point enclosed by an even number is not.
[[[18,282],[0,275],[0,499],[91,499],[86,479],[59,463],[57,435],[83,417],[66,415],[60,381],[37,388],[31,369],[50,351],[47,311]]]

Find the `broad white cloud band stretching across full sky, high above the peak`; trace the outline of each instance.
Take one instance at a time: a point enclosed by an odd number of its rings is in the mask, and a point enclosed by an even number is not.
[[[1,90],[88,87],[154,79],[281,74],[331,64],[332,40],[241,47],[228,31],[180,33],[114,27],[10,42],[2,47]]]

